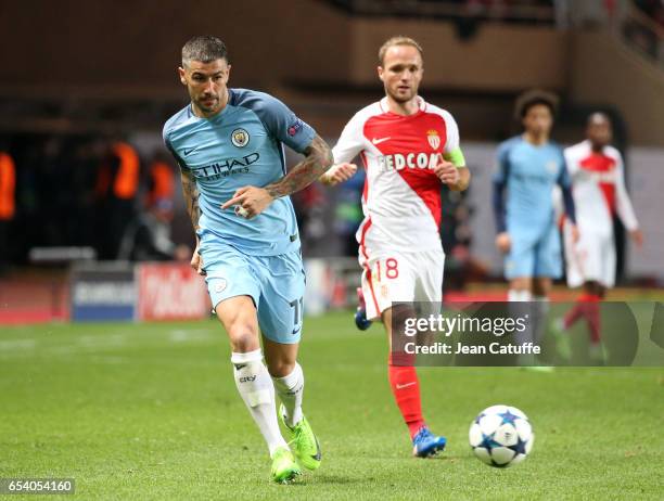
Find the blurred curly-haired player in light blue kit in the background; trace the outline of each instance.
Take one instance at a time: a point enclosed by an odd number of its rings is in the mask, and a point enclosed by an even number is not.
[[[552,279],[562,275],[560,235],[553,210],[553,188],[560,185],[565,213],[578,239],[571,180],[561,147],[549,140],[558,98],[541,90],[524,92],[515,115],[524,132],[498,147],[494,175],[496,246],[506,253],[508,300],[535,301],[537,339],[548,309]],[[507,192],[507,193],[506,193]]]

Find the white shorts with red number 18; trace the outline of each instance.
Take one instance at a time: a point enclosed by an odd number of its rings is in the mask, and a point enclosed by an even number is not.
[[[443,249],[385,253],[376,258],[360,254],[359,260],[369,320],[380,318],[393,303],[443,301]]]

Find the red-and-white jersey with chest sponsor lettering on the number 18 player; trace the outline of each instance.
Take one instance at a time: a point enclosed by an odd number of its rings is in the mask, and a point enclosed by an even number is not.
[[[409,116],[390,112],[387,98],[360,110],[332,149],[334,163],[360,155],[367,170],[360,253],[442,248],[440,180],[433,168],[459,147],[452,116],[421,98]]]

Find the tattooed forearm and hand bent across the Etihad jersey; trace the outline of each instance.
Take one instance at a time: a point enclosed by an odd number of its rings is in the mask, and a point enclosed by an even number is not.
[[[293,167],[279,181],[265,188],[240,188],[235,191],[233,197],[226,202],[221,208],[227,209],[235,205],[235,211],[245,218],[258,216],[274,198],[290,195],[311,184],[333,163],[330,146],[320,136],[314,138],[304,154],[306,155],[305,159]]]

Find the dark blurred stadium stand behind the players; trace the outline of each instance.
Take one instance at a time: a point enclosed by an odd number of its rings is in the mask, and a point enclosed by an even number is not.
[[[448,254],[461,240],[470,244],[477,271],[499,275],[484,196],[490,155],[496,142],[516,130],[514,97],[544,87],[563,98],[554,138],[564,144],[582,139],[588,112],[613,117],[648,235],[638,259],[627,252],[623,277],[661,281],[656,193],[664,179],[656,167],[664,147],[664,54],[657,3],[2,2],[0,138],[17,170],[5,266],[25,266],[30,248],[55,245],[91,245],[103,258],[116,257],[117,243],[106,241],[118,236],[99,234],[112,219],[99,189],[105,149],[124,139],[139,153],[141,177],[131,202],[133,210],[142,209],[151,162],[163,153],[161,127],[187,101],[175,67],[192,34],[210,33],[227,42],[231,86],[276,94],[332,144],[352,114],[381,94],[376,47],[406,34],[425,50],[421,92],[457,117],[476,176],[464,202],[469,209],[445,218]],[[174,240],[191,244],[176,188]],[[334,221],[335,192],[312,188],[296,201],[303,220],[314,218],[303,228],[306,254],[345,254],[349,229]],[[470,217],[460,221],[470,234],[455,236],[455,214]]]

